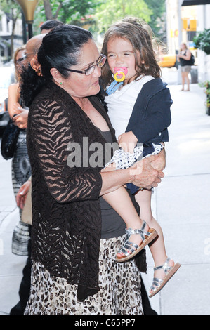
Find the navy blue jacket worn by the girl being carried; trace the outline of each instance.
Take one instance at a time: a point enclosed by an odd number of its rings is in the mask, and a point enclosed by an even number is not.
[[[171,124],[172,103],[162,79],[148,81],[138,94],[126,132],[132,131],[143,144],[169,141],[167,127]]]

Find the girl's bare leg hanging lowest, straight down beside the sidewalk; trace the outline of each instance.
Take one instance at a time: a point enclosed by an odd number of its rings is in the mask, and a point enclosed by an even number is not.
[[[135,195],[136,202],[138,202],[140,206],[140,218],[146,221],[149,227],[155,228],[157,231],[157,238],[150,243],[150,251],[152,253],[152,258],[155,263],[155,267],[159,265],[163,265],[166,261],[166,248],[164,244],[164,235],[162,232],[162,228],[160,227],[157,220],[152,216],[152,209],[151,209],[151,194],[150,190],[143,190],[138,191]],[[174,262],[170,260],[169,265],[173,267]],[[164,270],[156,270],[154,277],[164,279],[165,273]],[[152,291],[150,291],[152,293]]]

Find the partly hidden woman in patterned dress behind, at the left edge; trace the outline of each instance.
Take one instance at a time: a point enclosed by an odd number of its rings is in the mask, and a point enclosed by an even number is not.
[[[8,113],[16,126],[20,128],[15,154],[12,159],[12,183],[15,197],[18,190],[31,176],[31,166],[27,154],[26,128],[28,108],[24,106],[19,91],[20,72],[25,60],[25,46],[16,49],[14,54],[15,83],[8,87]],[[20,218],[13,231],[12,252],[19,256],[27,256],[29,241],[29,226],[22,223]]]

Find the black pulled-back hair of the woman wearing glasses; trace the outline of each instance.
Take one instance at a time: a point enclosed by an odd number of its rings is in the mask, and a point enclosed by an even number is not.
[[[42,76],[38,76],[30,65],[22,71],[21,95],[25,105],[29,107],[41,88],[53,79],[52,67],[64,78],[69,77],[70,72],[65,68],[77,65],[82,46],[92,38],[91,32],[75,25],[61,25],[46,34],[37,53]]]

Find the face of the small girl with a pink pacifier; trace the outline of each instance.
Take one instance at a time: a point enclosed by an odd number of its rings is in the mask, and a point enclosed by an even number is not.
[[[137,56],[139,56],[137,52]],[[124,84],[133,81],[136,77],[136,59],[133,46],[128,39],[113,37],[107,42],[107,60],[110,70],[116,73],[114,68],[126,67],[128,70]]]

